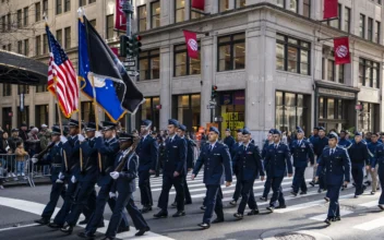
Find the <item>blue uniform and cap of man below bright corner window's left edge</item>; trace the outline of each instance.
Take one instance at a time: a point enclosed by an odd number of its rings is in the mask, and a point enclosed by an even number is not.
[[[274,134],[281,135],[281,132],[275,130]],[[288,145],[283,142],[271,144],[268,146],[264,163],[267,176],[272,179],[272,190],[274,192],[269,201],[269,207],[267,207],[267,209],[273,212],[276,205],[276,201],[279,202],[279,206],[277,208],[286,207],[281,182],[284,177],[287,175],[287,168],[288,173],[292,173],[292,163],[290,161],[290,152]]]

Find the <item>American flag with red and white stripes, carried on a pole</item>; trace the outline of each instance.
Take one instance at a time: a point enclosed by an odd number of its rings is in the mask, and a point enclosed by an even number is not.
[[[79,104],[79,83],[76,72],[72,62],[55,36],[46,27],[49,45],[49,67],[48,67],[48,89],[59,101],[61,111],[67,118],[77,110]],[[56,80],[57,88],[53,81]]]

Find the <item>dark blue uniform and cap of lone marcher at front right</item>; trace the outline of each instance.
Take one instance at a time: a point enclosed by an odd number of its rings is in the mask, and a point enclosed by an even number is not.
[[[329,134],[331,139],[337,140],[336,133]],[[329,209],[326,223],[331,220],[339,220],[340,208],[338,196],[343,181],[350,181],[350,159],[346,149],[336,146],[335,148],[325,147],[319,160],[317,176],[325,171],[327,196],[329,197]]]

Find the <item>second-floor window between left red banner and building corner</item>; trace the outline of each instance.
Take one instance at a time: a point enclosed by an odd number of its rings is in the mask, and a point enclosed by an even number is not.
[[[217,71],[245,68],[245,34],[233,34],[218,38]]]

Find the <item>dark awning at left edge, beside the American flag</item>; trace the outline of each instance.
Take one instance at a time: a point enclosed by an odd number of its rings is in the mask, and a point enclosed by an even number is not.
[[[43,85],[47,82],[47,64],[22,55],[0,50],[0,83]]]

